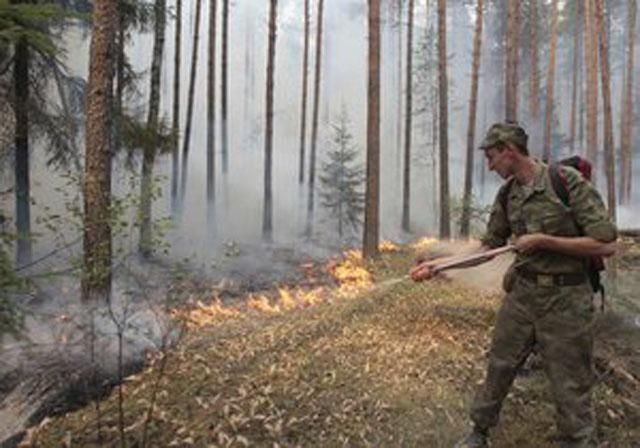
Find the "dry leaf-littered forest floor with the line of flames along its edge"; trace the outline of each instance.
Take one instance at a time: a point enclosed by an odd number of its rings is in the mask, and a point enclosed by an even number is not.
[[[455,276],[400,280],[417,250],[303,266],[310,278],[340,281],[275,288],[235,307],[203,296],[176,312],[186,328],[178,345],[128,377],[121,395],[116,388],[99,406],[45,419],[22,446],[450,447],[467,429],[501,295]],[[637,281],[630,253],[618,275]],[[488,277],[495,285],[499,272]],[[615,298],[598,315],[601,446],[640,446],[639,320]],[[548,384],[530,369],[516,379],[492,446],[553,446],[553,435]]]

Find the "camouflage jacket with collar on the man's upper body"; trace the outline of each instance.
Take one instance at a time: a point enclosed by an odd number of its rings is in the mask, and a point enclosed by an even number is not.
[[[536,161],[533,184],[520,185],[515,179],[509,179],[501,187],[482,243],[491,248],[500,247],[509,238],[528,233],[615,241],[616,227],[593,184],[573,168],[562,166],[560,169],[567,182],[570,207],[566,207],[554,191],[548,166]],[[504,195],[507,195],[506,201]],[[540,273],[576,273],[584,271],[585,259],[537,251],[517,254],[515,265]]]

